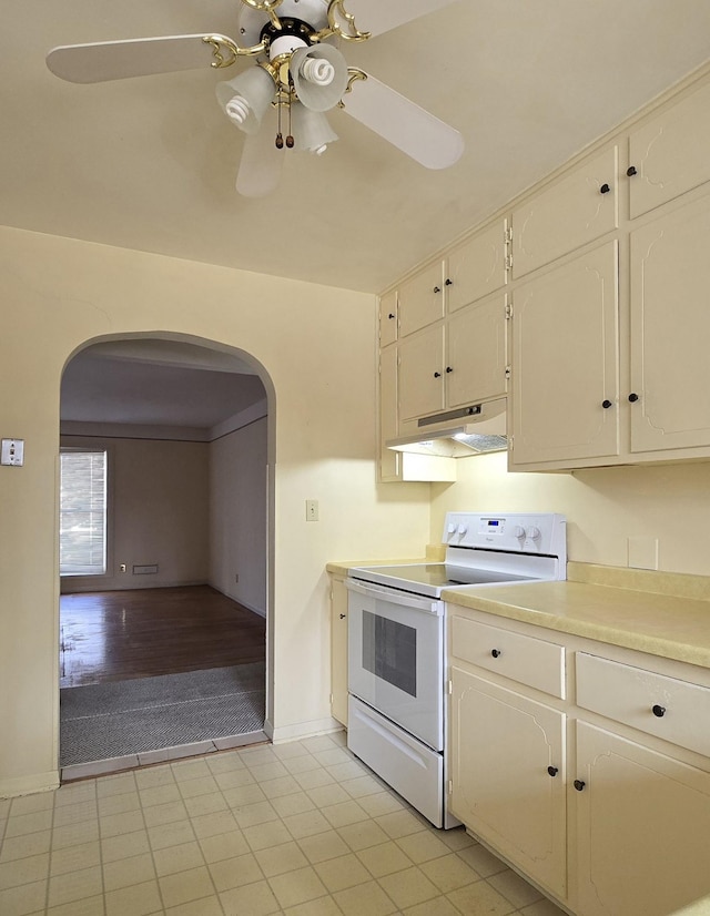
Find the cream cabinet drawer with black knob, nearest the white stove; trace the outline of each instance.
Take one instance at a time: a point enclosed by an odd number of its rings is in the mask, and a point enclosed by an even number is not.
[[[520,684],[565,699],[565,649],[499,627],[454,615],[452,655]]]

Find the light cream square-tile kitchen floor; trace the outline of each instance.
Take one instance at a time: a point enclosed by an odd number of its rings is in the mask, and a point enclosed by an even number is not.
[[[562,916],[343,733],[0,801],[2,916]]]

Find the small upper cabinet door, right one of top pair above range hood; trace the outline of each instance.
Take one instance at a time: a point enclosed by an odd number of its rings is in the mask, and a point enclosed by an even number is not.
[[[496,221],[449,252],[445,281],[449,314],[505,286],[505,221]]]

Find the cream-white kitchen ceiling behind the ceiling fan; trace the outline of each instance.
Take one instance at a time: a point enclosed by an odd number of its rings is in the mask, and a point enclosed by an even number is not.
[[[233,34],[236,9],[3,0],[0,223],[379,292],[710,58],[708,0],[458,0],[343,50],[460,130],[459,163],[429,172],[336,111],[341,141],[290,154],[261,201],[234,191],[223,74],[77,85],[44,65],[57,44]]]

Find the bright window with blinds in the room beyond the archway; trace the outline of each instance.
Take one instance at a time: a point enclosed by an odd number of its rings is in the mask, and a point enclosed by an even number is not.
[[[106,571],[106,452],[60,454],[59,571],[102,576]]]

